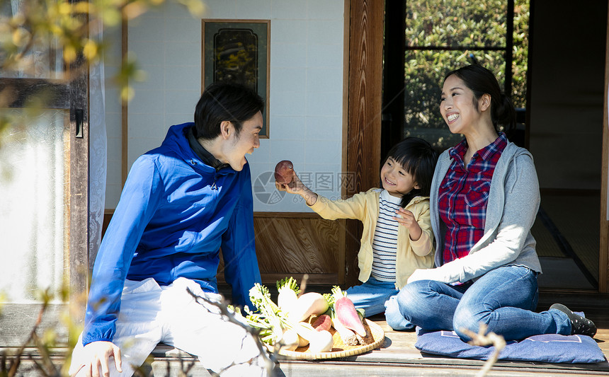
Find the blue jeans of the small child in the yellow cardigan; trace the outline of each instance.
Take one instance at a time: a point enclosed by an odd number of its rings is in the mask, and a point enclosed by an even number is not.
[[[399,313],[395,296],[399,291],[393,282],[380,282],[370,277],[368,282],[347,289],[347,296],[355,308],[363,308],[366,317],[385,311],[387,323],[392,323],[394,330],[406,330],[414,327],[404,315]]]

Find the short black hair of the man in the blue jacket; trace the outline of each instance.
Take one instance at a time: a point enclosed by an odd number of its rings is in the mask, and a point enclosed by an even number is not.
[[[241,124],[263,110],[264,100],[250,88],[237,83],[212,83],[195,108],[195,137],[215,139],[220,134],[220,123],[225,120],[232,122],[239,135]]]

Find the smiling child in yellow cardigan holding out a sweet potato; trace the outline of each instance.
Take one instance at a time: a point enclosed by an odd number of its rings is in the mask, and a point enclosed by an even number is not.
[[[438,153],[427,141],[408,137],[387,153],[380,170],[382,189],[345,200],[315,194],[296,173],[287,185],[275,182],[278,190],[302,196],[324,219],[363,222],[358,253],[363,284],[347,289],[347,296],[355,308],[365,309],[366,316],[385,311],[395,330],[413,325],[397,310],[394,296],[415,269],[433,267],[429,189],[437,160]]]

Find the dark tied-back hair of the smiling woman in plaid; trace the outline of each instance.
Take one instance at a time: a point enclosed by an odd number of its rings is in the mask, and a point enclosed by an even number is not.
[[[496,132],[503,131],[509,136],[516,129],[516,110],[511,99],[501,92],[495,75],[479,64],[463,66],[460,69],[448,72],[444,81],[452,75],[462,79],[467,88],[474,92],[474,107],[478,110],[478,100],[483,94],[491,96],[491,121]]]

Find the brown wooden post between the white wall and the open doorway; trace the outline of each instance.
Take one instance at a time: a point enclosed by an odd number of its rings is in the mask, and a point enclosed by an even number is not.
[[[355,176],[348,197],[378,185],[382,115],[383,1],[351,0],[347,172]],[[358,284],[357,253],[362,227],[346,222],[346,285]]]

